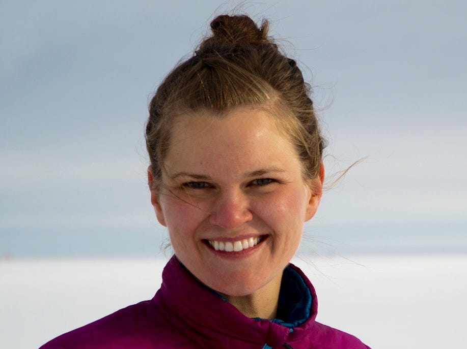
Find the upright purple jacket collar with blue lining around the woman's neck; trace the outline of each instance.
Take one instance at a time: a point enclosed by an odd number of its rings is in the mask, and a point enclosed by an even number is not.
[[[219,340],[229,340],[231,346],[224,347],[237,347],[237,341],[276,347],[296,340],[313,326],[317,313],[313,286],[292,264],[284,271],[279,298],[278,315],[283,319],[248,318],[199,282],[173,256],[162,272],[162,285],[153,302],[185,336],[200,344],[215,347]]]

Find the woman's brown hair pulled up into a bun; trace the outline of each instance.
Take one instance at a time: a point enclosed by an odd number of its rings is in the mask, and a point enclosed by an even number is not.
[[[245,15],[221,15],[212,36],[162,81],[149,105],[146,146],[153,185],[160,184],[163,161],[178,115],[204,110],[219,116],[236,107],[269,108],[279,130],[290,138],[305,179],[318,177],[325,141],[310,99],[311,87],[293,59]]]

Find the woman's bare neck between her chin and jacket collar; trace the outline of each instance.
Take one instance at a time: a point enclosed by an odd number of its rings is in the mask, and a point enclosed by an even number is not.
[[[249,318],[274,319],[279,302],[281,279],[282,275],[269,281],[250,295],[230,296],[223,294],[223,297]]]

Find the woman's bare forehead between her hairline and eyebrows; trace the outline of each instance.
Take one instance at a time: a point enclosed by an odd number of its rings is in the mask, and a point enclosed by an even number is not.
[[[251,108],[225,115],[205,112],[180,116],[172,129],[164,165],[168,171],[220,168],[248,172],[271,166],[300,169],[291,142],[278,131],[276,118]]]

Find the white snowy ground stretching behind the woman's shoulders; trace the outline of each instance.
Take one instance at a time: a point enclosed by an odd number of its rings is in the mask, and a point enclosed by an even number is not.
[[[163,259],[0,262],[0,348],[37,348],[65,331],[149,299]],[[467,343],[467,256],[304,258],[317,320],[373,349]]]

